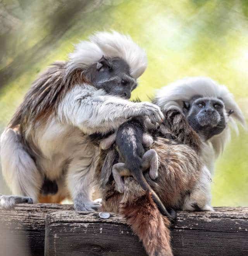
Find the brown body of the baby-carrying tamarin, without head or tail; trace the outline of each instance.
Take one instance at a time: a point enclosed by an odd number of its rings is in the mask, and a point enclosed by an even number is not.
[[[198,142],[201,143],[200,139]],[[158,177],[153,181],[148,172],[144,172],[144,176],[163,204],[174,209],[211,210],[210,197],[205,196],[205,192],[210,189],[210,173],[202,164],[194,148],[158,137],[150,149],[155,150],[158,155]],[[100,152],[96,167],[96,175],[100,181],[102,192],[103,209],[106,211],[118,212],[119,208],[119,203],[114,202],[114,195],[117,195],[120,200],[121,194],[115,190],[116,184],[109,171],[118,160],[118,152],[115,147],[112,147]],[[199,194],[200,192],[202,195]]]

